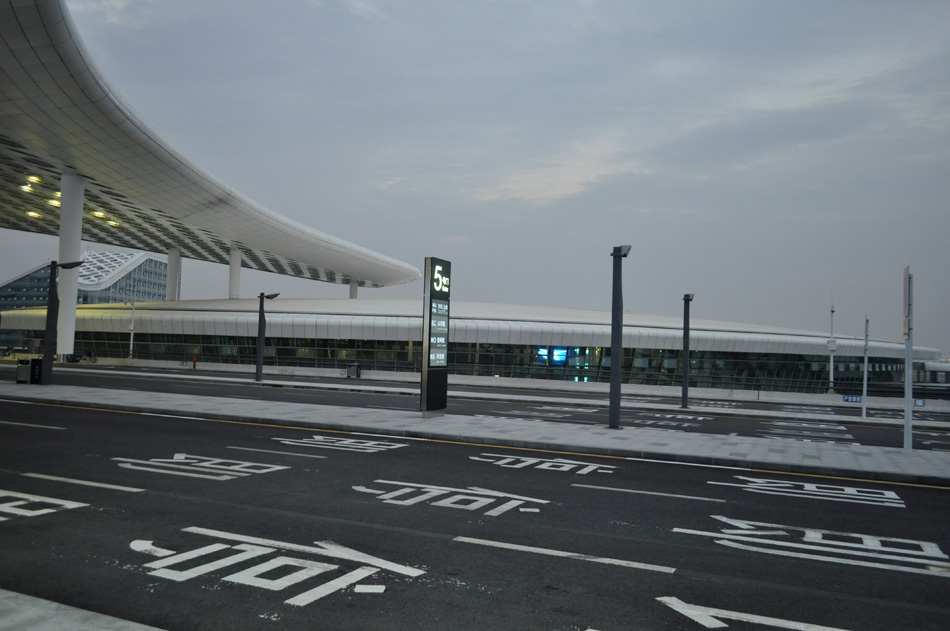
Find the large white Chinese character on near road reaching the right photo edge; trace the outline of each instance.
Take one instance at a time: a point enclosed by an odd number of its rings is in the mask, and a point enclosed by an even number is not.
[[[940,547],[936,543],[930,541],[877,537],[875,535],[835,532],[833,530],[819,530],[817,528],[802,528],[801,526],[783,526],[781,524],[730,519],[722,515],[710,515],[710,517],[732,526],[737,526],[737,528],[723,528],[721,532],[704,532],[701,530],[674,528],[673,532],[715,537],[716,543],[740,550],[751,550],[799,559],[813,559],[830,563],[843,563],[846,565],[895,570],[898,572],[950,577],[950,563],[947,563],[947,555],[940,550]],[[759,530],[759,527],[764,528],[764,530]],[[793,537],[793,534],[789,531],[801,532],[802,535],[798,538],[804,543],[776,541],[773,538],[782,536]],[[763,539],[762,537],[769,537],[769,539]],[[747,545],[748,543],[759,545]],[[792,548],[793,550],[769,549],[766,546]],[[797,552],[795,550],[807,550],[809,552]],[[812,554],[811,552],[822,552],[824,554]],[[849,555],[874,560],[865,561],[831,555]],[[885,561],[887,562],[885,563]],[[914,565],[923,567],[914,567]]]

